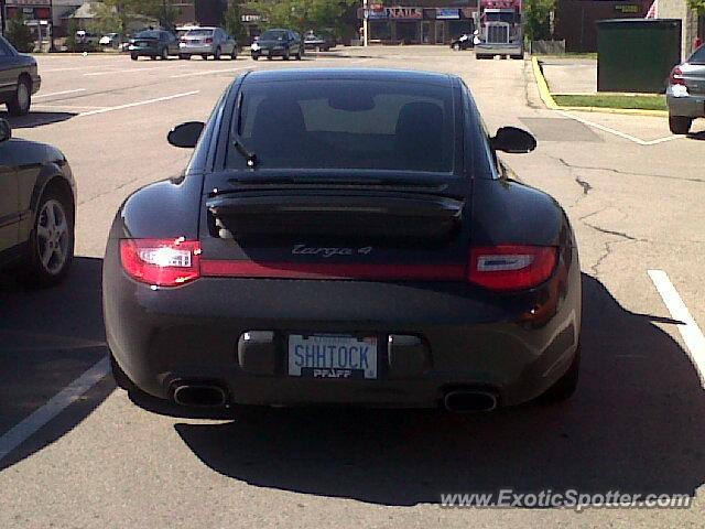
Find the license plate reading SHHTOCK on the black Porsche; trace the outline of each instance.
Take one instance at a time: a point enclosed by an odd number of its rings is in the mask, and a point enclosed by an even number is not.
[[[289,375],[307,378],[376,379],[377,338],[292,334],[289,336]]]

